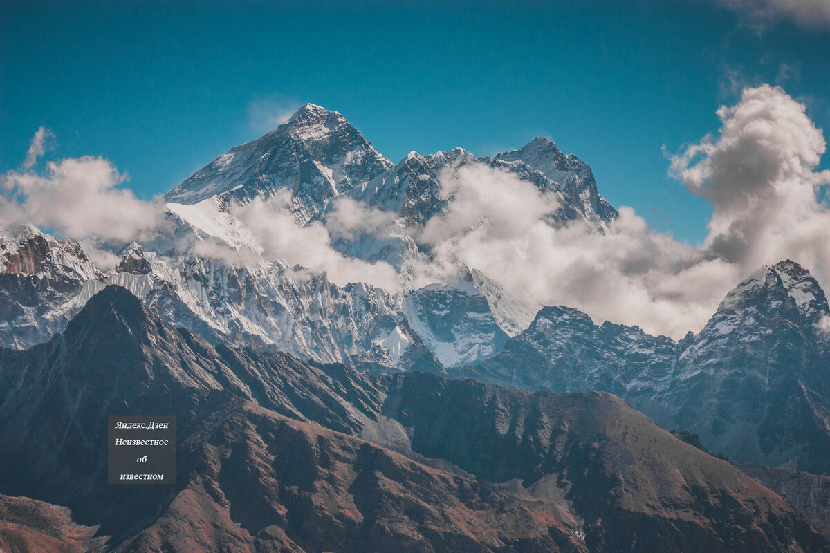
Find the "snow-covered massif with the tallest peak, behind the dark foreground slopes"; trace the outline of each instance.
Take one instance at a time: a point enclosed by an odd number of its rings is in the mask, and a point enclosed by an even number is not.
[[[0,254],[9,254],[0,255],[0,263],[7,272],[14,265],[15,279],[24,273],[51,278],[50,286],[38,284],[29,293],[36,300],[25,306],[12,289],[17,281],[7,284],[5,301],[16,314],[0,332],[0,343],[45,341],[105,284],[119,284],[168,321],[212,340],[276,347],[318,361],[348,361],[379,349],[393,364],[413,347],[428,348],[447,366],[475,364],[530,324],[540,306],[511,298],[474,267],[461,266],[457,278],[413,289],[413,265],[430,255],[417,236],[447,207],[442,172],[471,163],[509,171],[555,196],[559,221],[600,228],[616,216],[598,196],[590,167],[545,139],[492,159],[456,148],[409,153],[393,164],[341,114],[306,104],[285,124],[223,153],[170,191],[165,228],[152,239],[97,245],[117,253],[118,262],[105,273],[75,243],[33,227],[0,232]],[[329,224],[335,202],[344,199],[375,210],[383,221],[388,216],[383,232],[332,231],[330,246],[349,259],[391,265],[403,291],[334,284],[325,269],[266,255],[261,236],[242,224],[237,209],[286,195],[286,209],[300,226]],[[51,253],[17,255],[27,236],[37,242],[32,252]]]

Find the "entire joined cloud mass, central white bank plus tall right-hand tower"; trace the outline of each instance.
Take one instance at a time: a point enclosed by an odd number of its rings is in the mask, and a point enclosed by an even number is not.
[[[553,225],[551,196],[476,163],[439,176],[449,204],[418,238],[432,257],[413,268],[416,285],[451,281],[461,262],[530,306],[569,305],[598,321],[681,337],[762,264],[796,260],[826,283],[822,132],[803,104],[769,85],[745,89],[717,113],[718,133],[670,157],[670,174],[714,206],[703,244],[655,232],[626,206],[603,231],[586,221]]]

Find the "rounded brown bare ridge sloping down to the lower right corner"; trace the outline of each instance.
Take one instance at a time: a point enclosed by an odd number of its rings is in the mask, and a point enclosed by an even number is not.
[[[390,390],[384,415],[408,429],[414,451],[479,478],[555,483],[584,521],[590,551],[779,551],[791,540],[767,534],[779,524],[772,519],[735,526],[750,504],[787,511],[779,497],[613,395],[534,394],[411,373]]]

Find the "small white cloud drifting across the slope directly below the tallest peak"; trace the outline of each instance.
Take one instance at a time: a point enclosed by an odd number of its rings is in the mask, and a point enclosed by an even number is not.
[[[325,271],[334,284],[365,282],[388,290],[399,288],[398,273],[392,265],[344,256],[334,250],[329,230],[322,223],[298,225],[291,205],[291,192],[281,190],[267,200],[257,197],[243,206],[233,206],[231,211],[260,241],[266,258]]]

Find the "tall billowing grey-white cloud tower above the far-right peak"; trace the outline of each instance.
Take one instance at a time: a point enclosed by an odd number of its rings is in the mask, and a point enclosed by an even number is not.
[[[742,268],[792,258],[826,278],[830,211],[818,191],[823,133],[779,87],[745,89],[721,107],[720,133],[671,157],[670,174],[715,206],[704,247]]]

